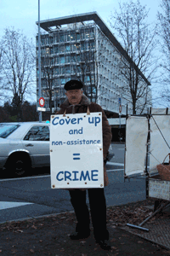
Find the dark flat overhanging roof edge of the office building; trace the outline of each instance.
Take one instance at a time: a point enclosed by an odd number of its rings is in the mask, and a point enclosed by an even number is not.
[[[90,12],[86,14],[81,15],[71,15],[71,16],[65,16],[61,18],[56,19],[50,19],[50,20],[41,20],[40,26],[42,29],[44,29],[47,32],[52,32],[55,28],[58,28],[71,23],[77,23],[77,22],[86,22],[93,20],[100,28],[100,30],[105,34],[107,38],[111,41],[111,43],[118,49],[118,51],[124,56],[124,58],[131,64],[131,67],[133,67],[137,73],[141,76],[142,79],[144,79],[144,82],[148,85],[150,85],[150,82],[148,79],[144,77],[144,74],[139,70],[139,67],[135,65],[133,60],[127,55],[127,52],[125,49],[122,48],[122,45],[116,40],[110,29],[105,25],[105,22],[99,17],[97,12]],[[38,25],[38,21],[36,22]]]

